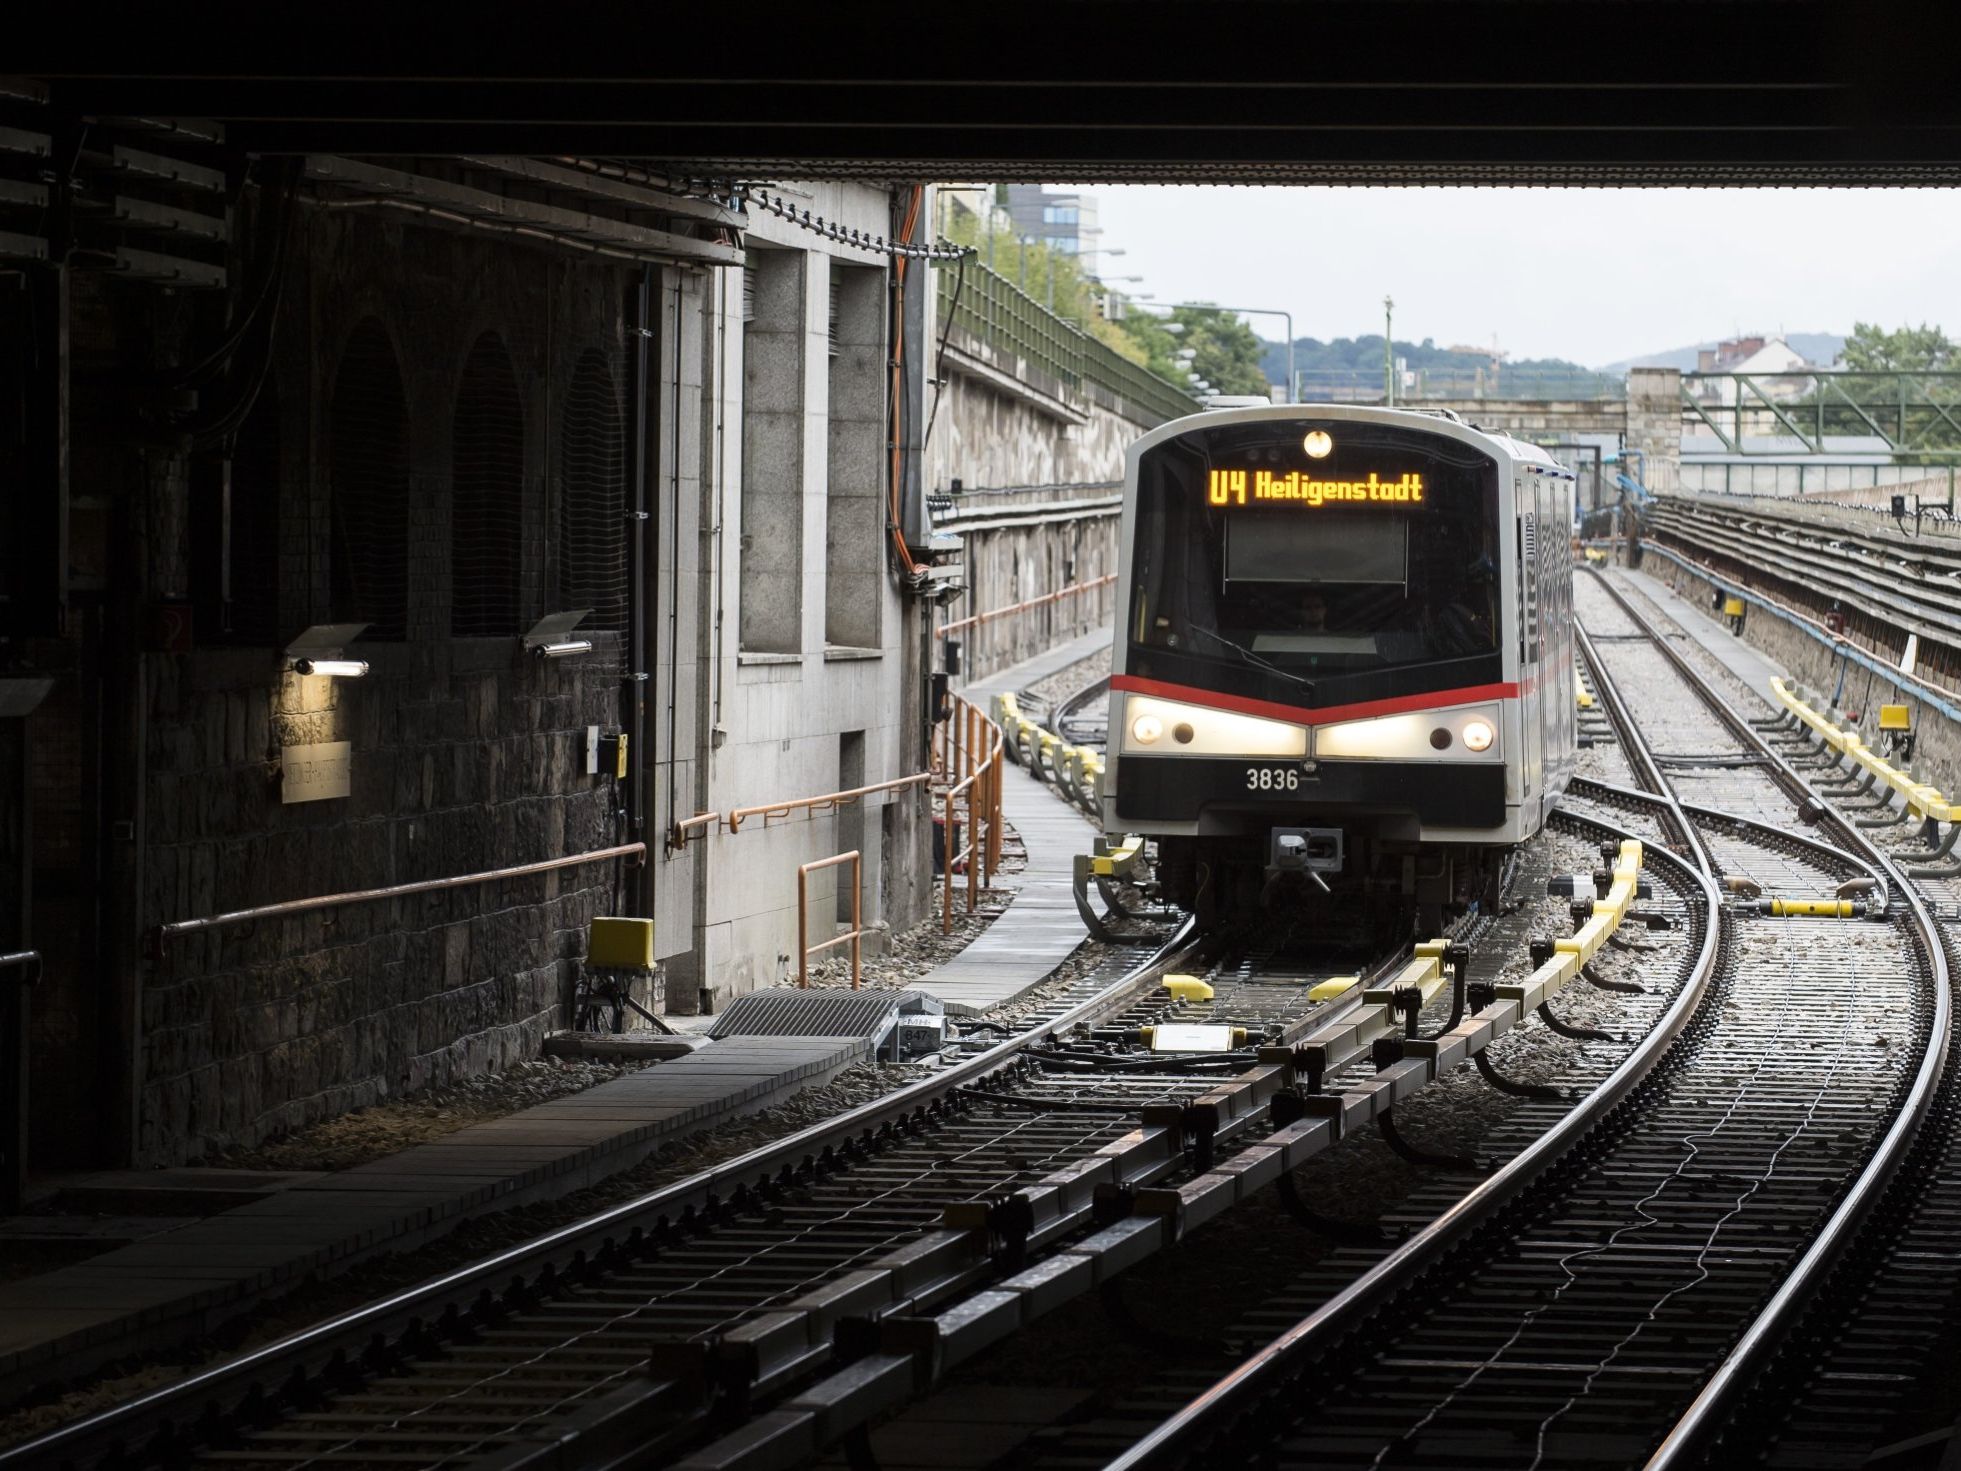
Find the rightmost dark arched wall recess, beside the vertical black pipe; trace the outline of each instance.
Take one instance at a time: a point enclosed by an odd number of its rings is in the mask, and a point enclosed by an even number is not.
[[[578,357],[559,414],[557,608],[590,608],[580,628],[626,630],[626,430],[606,357]]]

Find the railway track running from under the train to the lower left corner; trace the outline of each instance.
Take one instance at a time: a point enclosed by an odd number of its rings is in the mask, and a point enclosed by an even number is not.
[[[1235,1149],[1279,1069],[1253,1087],[1233,1081],[1245,1049],[1139,1057],[1139,1030],[1224,1022],[1249,1045],[1284,1045],[1361,1008],[1361,990],[1312,1000],[1302,959],[1284,926],[1186,926],[939,1077],[0,1453],[0,1467],[671,1461],[767,1420],[849,1357],[853,1332],[959,1304],[1102,1224],[1104,1191],[1128,1200]],[[1212,1000],[1161,989],[1171,967]],[[1202,1140],[1196,1104],[1216,1110]],[[1002,1210],[1055,1181],[1075,1185],[1051,1189],[1039,1218]]]

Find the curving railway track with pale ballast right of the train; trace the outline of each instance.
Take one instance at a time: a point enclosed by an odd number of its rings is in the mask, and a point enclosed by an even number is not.
[[[1688,983],[1614,1083],[1116,1465],[1720,1457],[1904,1179],[1949,1030],[1926,902],[1849,822],[1788,832],[1802,779],[1632,604],[1588,579],[1579,606],[1641,790],[1581,785],[1569,806],[1679,849],[1653,857],[1706,896]],[[1741,914],[1875,877],[1879,920]]]

